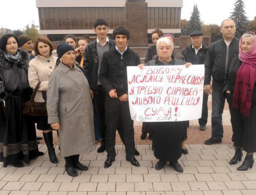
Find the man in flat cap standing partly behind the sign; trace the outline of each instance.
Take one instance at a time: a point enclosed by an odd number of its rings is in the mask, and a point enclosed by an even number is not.
[[[184,56],[186,62],[192,64],[204,64],[206,52],[208,47],[203,44],[203,33],[201,31],[193,31],[189,34],[191,45],[184,48],[181,54]],[[200,130],[204,131],[206,128],[208,118],[208,95],[203,95],[202,117],[198,119]]]

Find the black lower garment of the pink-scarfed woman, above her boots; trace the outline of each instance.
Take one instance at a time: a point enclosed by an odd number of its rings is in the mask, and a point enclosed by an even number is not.
[[[233,95],[227,94],[227,102],[231,116],[234,146],[243,147],[247,153],[256,152],[256,102],[252,102],[250,116],[243,116],[232,107]]]

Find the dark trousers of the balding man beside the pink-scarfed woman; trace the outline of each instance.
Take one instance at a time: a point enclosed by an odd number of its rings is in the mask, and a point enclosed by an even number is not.
[[[223,125],[222,114],[225,105],[223,92],[223,83],[212,81],[212,100],[211,100],[211,137],[214,140],[222,140],[223,138]]]

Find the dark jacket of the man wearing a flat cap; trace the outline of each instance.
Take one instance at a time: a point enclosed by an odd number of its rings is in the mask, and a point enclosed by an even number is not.
[[[203,48],[201,48],[198,52],[198,54],[201,54],[202,56],[200,57],[200,64],[204,64],[204,60],[207,54],[208,47],[203,44]],[[184,56],[184,60],[186,62],[193,63],[193,52],[195,53],[195,49],[192,48],[192,44],[186,48],[184,48],[181,52],[181,54]]]

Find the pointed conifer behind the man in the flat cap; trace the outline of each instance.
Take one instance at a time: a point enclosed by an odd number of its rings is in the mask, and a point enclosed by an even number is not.
[[[194,5],[193,12],[191,13],[190,19],[187,25],[187,33],[191,33],[195,30],[201,31],[201,19],[200,12],[197,8],[197,5]]]

